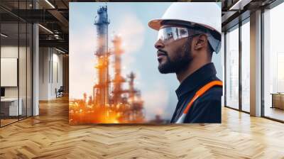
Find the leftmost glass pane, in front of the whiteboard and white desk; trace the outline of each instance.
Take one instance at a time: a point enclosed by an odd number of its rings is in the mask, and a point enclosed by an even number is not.
[[[1,126],[18,121],[18,23],[1,23]]]

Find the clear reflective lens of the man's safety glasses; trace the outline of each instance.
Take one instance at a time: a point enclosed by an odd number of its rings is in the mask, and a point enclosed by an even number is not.
[[[158,32],[158,40],[178,40],[185,37],[188,37],[187,28],[167,27],[161,28]]]

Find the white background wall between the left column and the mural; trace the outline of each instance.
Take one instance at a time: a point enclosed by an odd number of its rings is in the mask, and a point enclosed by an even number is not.
[[[55,99],[55,88],[62,86],[62,55],[54,48],[39,52],[39,100]]]

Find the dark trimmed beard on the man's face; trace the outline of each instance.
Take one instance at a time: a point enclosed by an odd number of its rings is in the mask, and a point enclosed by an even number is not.
[[[160,52],[165,53],[165,57],[167,57],[167,60],[165,63],[160,64],[158,66],[158,70],[162,74],[167,74],[167,73],[177,73],[180,72],[181,70],[185,70],[187,65],[189,65],[190,61],[192,60],[192,55],[190,53],[190,45],[188,45],[188,40],[185,45],[183,45],[182,48],[179,48],[178,50],[175,51],[175,57],[170,59],[168,56],[168,53],[159,50]]]

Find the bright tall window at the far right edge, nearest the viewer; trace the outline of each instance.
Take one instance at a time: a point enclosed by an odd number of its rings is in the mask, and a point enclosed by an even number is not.
[[[264,116],[284,121],[284,3],[263,13]]]

